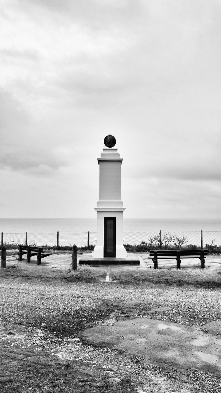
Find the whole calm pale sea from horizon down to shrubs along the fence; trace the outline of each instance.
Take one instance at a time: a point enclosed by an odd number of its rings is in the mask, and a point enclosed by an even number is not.
[[[86,246],[88,231],[90,244],[96,244],[96,218],[17,218],[0,219],[0,232],[3,233],[5,244],[25,244],[26,232],[28,244],[56,245],[59,232],[59,245],[76,244]],[[187,244],[201,243],[203,230],[203,244],[221,244],[221,219],[151,219],[124,218],[124,244],[141,244],[150,242],[151,237],[162,231],[173,235],[186,237]]]

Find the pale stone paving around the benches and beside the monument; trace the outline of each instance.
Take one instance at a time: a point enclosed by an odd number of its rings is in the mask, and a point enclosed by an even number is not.
[[[89,253],[88,253],[89,254]],[[82,254],[79,254],[77,260],[81,257]],[[133,255],[133,253],[128,253],[128,255]],[[136,265],[120,265],[120,268],[133,268],[133,269],[147,269],[153,268],[153,262],[148,259],[149,253],[142,253],[142,254],[135,254],[140,259],[140,266]],[[6,257],[6,266],[11,264],[23,264],[27,263],[26,258],[24,257],[22,261],[18,261],[17,255],[10,256],[7,255]],[[37,264],[37,257],[31,258],[31,264]],[[49,267],[49,268],[56,268],[56,269],[63,269],[69,268],[72,265],[72,254],[52,254],[41,261],[41,266]],[[116,268],[116,265],[113,265]],[[106,265],[107,267],[107,265]],[[176,260],[175,259],[158,259],[158,269],[172,269],[176,268]],[[186,268],[201,268],[200,267],[200,259],[181,259],[181,269]],[[213,269],[213,270],[221,270],[221,255],[208,255],[206,257],[205,269]]]

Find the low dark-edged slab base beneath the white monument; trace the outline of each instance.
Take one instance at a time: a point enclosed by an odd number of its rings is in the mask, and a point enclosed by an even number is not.
[[[133,253],[127,254],[125,258],[94,258],[92,254],[84,253],[79,259],[79,265],[140,265],[140,259]]]

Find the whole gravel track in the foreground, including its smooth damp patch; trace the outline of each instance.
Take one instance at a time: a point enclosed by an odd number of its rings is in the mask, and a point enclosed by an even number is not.
[[[130,381],[134,392],[221,392],[219,289],[38,280],[0,285],[0,339],[8,347],[93,367],[110,384]]]

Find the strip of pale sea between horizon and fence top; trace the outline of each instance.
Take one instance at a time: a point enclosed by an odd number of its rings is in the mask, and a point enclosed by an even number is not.
[[[17,218],[0,219],[0,232],[4,233],[82,233],[96,232],[96,218]],[[124,232],[192,232],[221,231],[221,219],[153,219],[124,218]]]

